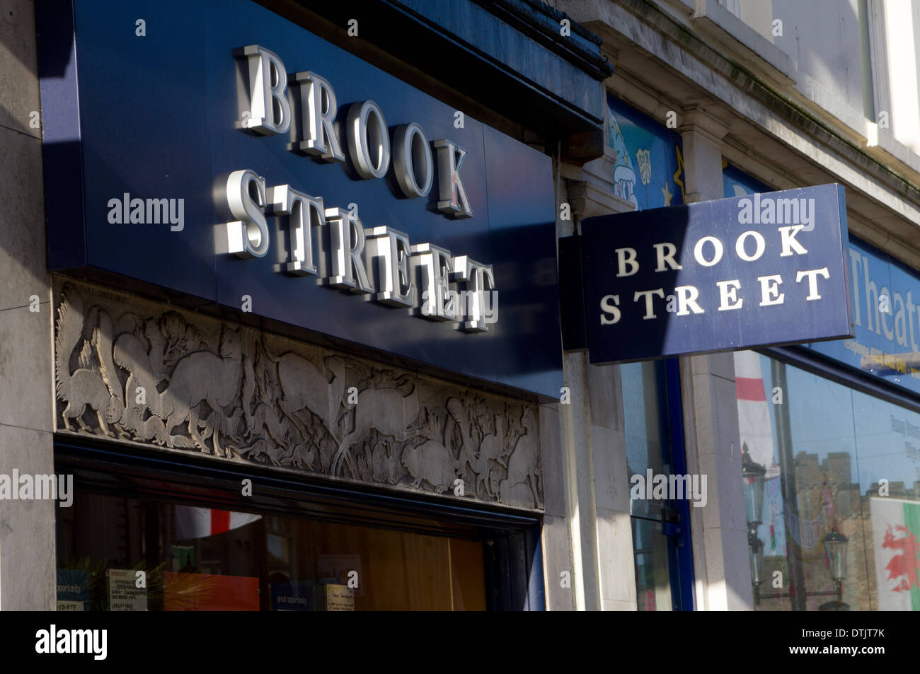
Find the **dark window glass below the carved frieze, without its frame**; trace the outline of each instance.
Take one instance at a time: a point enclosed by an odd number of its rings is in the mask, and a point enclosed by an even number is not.
[[[472,537],[77,496],[58,509],[59,611],[487,608]]]

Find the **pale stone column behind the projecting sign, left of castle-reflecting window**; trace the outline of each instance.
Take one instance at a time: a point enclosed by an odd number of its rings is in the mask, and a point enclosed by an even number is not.
[[[685,200],[723,197],[721,139],[706,111],[684,110]],[[753,610],[732,354],[681,359],[687,471],[707,475],[707,505],[690,508],[698,611]]]

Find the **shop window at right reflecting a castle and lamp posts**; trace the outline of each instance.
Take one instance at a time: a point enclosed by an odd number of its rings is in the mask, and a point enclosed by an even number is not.
[[[735,354],[757,611],[920,610],[920,414]]]

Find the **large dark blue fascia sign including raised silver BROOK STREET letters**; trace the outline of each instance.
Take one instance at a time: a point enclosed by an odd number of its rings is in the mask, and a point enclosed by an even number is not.
[[[52,270],[558,395],[546,154],[248,0],[38,19]]]

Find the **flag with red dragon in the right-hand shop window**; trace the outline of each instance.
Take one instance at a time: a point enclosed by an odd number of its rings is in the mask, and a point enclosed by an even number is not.
[[[920,611],[920,503],[869,498],[879,611]]]

